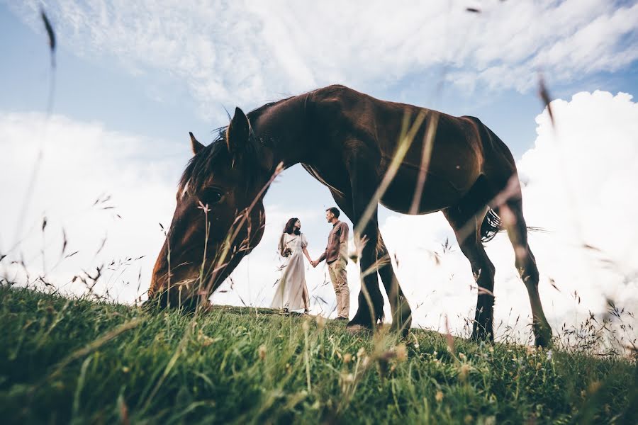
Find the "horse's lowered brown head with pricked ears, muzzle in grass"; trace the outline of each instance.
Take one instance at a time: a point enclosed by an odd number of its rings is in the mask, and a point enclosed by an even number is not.
[[[194,156],[177,191],[177,207],[159,252],[149,297],[196,305],[228,277],[262,239],[264,184],[272,157],[239,108],[228,128],[204,146],[191,133]]]

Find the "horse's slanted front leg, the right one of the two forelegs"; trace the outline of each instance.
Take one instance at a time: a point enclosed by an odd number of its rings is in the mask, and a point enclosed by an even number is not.
[[[390,302],[390,310],[392,312],[392,329],[405,334],[412,324],[412,310],[408,304],[408,300],[403,295],[401,285],[398,283],[390,254],[386,248],[383,237],[379,233],[379,246],[377,249],[377,258],[379,261],[379,276],[386,288],[388,301]]]

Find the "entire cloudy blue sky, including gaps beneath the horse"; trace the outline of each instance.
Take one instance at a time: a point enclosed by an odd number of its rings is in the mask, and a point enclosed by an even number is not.
[[[55,72],[41,4],[57,36]],[[637,23],[638,1],[0,0],[0,276],[43,276],[81,293],[73,276],[94,276],[104,263],[96,293],[144,297],[159,223],[169,225],[191,156],[188,132],[208,143],[235,106],[345,84],[476,116],[505,141],[525,184],[527,223],[547,230],[530,234],[530,245],[554,329],[604,315],[608,298],[635,312]],[[540,74],[555,128],[537,95]],[[265,205],[264,239],[213,302],[269,305],[289,217],[301,219],[311,256],[323,251],[333,201],[301,166],[279,177]],[[441,329],[447,315],[461,333],[476,288],[442,215],[381,208],[379,222],[415,325]],[[487,251],[496,323],[529,330],[507,237]],[[352,315],[357,265],[348,273]],[[327,270],[306,276],[312,311],[329,314]]]

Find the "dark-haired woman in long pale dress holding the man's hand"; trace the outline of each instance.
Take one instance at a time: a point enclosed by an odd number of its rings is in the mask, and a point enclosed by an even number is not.
[[[279,254],[284,257],[284,266],[279,287],[276,290],[272,307],[286,310],[300,310],[307,313],[310,308],[310,298],[306,287],[306,271],[303,256],[312,262],[308,250],[308,239],[301,233],[301,222],[298,218],[291,218],[284,227],[284,233],[279,239]],[[302,256],[303,254],[303,256]]]

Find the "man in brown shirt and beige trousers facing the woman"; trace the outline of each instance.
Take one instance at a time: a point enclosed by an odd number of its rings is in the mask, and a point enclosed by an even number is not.
[[[346,265],[348,263],[348,225],[339,221],[340,212],[332,207],[325,210],[325,218],[332,224],[328,235],[328,246],[318,260],[312,262],[313,267],[325,260],[328,263],[330,280],[337,295],[337,320],[347,320],[350,312],[350,290]]]

